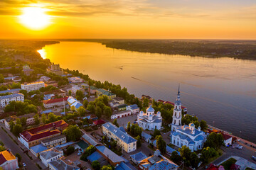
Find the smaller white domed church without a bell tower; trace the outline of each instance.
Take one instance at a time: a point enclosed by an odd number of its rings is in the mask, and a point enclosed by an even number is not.
[[[162,117],[161,112],[157,112],[156,115],[154,113],[154,108],[149,106],[146,109],[146,113],[140,111],[137,115],[137,122],[139,127],[143,128],[144,130],[160,130],[162,128]]]

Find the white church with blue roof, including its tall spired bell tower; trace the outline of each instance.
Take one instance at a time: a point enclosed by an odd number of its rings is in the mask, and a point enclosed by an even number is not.
[[[181,125],[181,96],[178,86],[178,94],[174,104],[173,121],[171,123],[171,144],[177,147],[186,145],[191,151],[196,151],[203,148],[203,143],[206,142],[206,133],[201,131],[201,128],[196,129],[193,123],[189,125]]]

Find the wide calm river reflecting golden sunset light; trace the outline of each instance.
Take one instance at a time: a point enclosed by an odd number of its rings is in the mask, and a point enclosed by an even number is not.
[[[97,42],[60,42],[40,52],[62,68],[120,84],[139,98],[174,102],[180,83],[188,114],[256,142],[256,61],[114,50]]]

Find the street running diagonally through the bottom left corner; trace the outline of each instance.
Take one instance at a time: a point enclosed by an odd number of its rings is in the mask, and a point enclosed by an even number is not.
[[[7,131],[8,132],[8,131]],[[31,160],[26,154],[21,150],[21,145],[16,145],[13,140],[9,137],[9,135],[0,128],[0,140],[4,142],[4,147],[11,149],[11,152],[15,155],[16,153],[20,154],[22,159],[21,162],[25,162],[26,169],[38,169],[38,166]],[[16,139],[17,140],[17,139]],[[31,153],[29,153],[31,155]]]

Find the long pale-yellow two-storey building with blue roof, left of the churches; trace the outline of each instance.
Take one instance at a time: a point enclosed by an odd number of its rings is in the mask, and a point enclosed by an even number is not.
[[[123,132],[123,130],[117,128],[112,123],[105,123],[102,125],[102,132],[109,139],[112,138],[116,140],[117,145],[122,147],[122,149],[124,149],[124,151],[127,153],[133,152],[137,149],[137,140],[128,135],[126,132]]]

